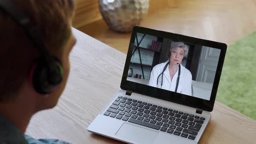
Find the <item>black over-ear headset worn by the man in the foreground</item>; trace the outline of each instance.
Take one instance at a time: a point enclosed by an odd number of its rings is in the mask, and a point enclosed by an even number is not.
[[[17,7],[11,3],[11,0],[0,0],[0,9],[10,14],[10,16],[26,30],[28,37],[34,43],[35,47],[41,52],[34,73],[33,86],[40,94],[48,94],[62,82],[63,69],[60,61],[55,56],[50,56],[45,47],[39,32]]]

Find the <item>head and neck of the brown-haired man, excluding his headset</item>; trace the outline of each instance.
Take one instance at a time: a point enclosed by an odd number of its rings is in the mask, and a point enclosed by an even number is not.
[[[71,23],[72,0],[11,0],[36,27],[50,55],[56,56],[63,67],[63,79],[50,94],[41,95],[34,89],[34,67],[42,53],[35,48],[26,30],[0,9],[0,104],[29,97],[39,111],[56,105],[69,75],[69,53],[75,44]],[[36,112],[35,111],[35,112]]]

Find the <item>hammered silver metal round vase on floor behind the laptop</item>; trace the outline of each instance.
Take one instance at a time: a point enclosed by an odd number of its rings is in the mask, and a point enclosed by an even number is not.
[[[99,10],[108,26],[117,32],[131,32],[148,13],[149,0],[99,0]]]

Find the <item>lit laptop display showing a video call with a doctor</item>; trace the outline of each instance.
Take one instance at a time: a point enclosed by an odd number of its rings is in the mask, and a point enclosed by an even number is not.
[[[127,80],[210,100],[220,49],[136,33]]]

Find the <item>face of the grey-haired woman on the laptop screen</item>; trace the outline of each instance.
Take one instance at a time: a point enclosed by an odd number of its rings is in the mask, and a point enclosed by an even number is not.
[[[174,64],[181,63],[183,58],[184,58],[184,49],[174,48],[171,51],[171,56],[170,56],[171,63],[174,63]]]

